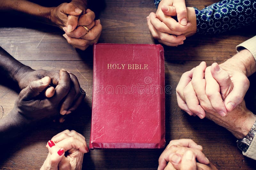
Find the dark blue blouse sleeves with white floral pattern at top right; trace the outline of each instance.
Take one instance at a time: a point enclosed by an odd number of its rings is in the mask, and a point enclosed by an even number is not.
[[[154,0],[156,7],[161,0]],[[256,21],[256,0],[223,0],[196,12],[197,33],[216,34]]]

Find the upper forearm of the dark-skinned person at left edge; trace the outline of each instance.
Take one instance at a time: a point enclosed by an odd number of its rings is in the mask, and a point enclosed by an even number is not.
[[[5,78],[18,83],[22,74],[33,69],[20,63],[0,47],[0,73]]]

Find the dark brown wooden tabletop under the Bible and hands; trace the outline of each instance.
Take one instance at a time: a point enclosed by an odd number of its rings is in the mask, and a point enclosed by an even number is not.
[[[188,6],[203,9],[216,0],[187,0]],[[107,0],[94,2],[105,8],[100,12],[103,31],[99,42],[104,43],[157,43],[152,39],[146,17],[155,12],[153,0]],[[49,5],[51,6],[51,5]],[[99,10],[99,7],[92,9]],[[34,23],[23,16],[6,19],[1,15],[0,46],[17,60],[34,68],[66,70],[74,73],[86,97],[76,113],[63,123],[51,123],[30,131],[24,137],[7,145],[1,154],[0,169],[39,169],[48,150],[45,145],[55,134],[76,130],[87,140],[90,138],[92,107],[92,48],[76,51],[62,37],[62,30]],[[254,27],[255,28],[255,27]],[[177,105],[175,89],[183,72],[197,66],[201,61],[211,64],[222,62],[236,54],[239,43],[255,35],[253,27],[221,35],[193,36],[179,47],[165,50],[165,80],[171,85],[171,94],[166,95],[166,140],[190,138],[204,147],[205,155],[219,169],[253,169],[256,161],[246,158],[236,147],[236,138],[226,129],[212,121],[189,117]],[[254,76],[255,78],[255,76]],[[252,78],[253,79],[253,78]],[[253,85],[254,84],[254,85]],[[0,85],[0,118],[6,116],[14,105],[19,91]],[[251,81],[251,87],[255,82]],[[247,107],[255,109],[255,91],[250,90]],[[253,110],[254,109],[254,110]],[[83,169],[156,169],[163,150],[93,150],[84,155]]]

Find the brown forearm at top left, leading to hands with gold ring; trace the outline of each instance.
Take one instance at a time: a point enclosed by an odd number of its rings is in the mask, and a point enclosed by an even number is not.
[[[2,0],[0,3],[0,11],[18,11],[48,24],[51,23],[50,9],[26,0]]]

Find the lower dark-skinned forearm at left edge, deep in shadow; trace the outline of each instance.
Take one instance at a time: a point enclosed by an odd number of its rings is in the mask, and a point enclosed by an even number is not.
[[[28,120],[12,110],[6,117],[0,119],[0,145],[19,137],[28,128]]]

